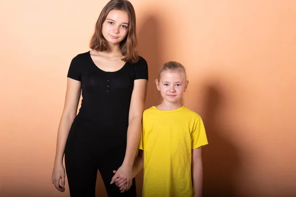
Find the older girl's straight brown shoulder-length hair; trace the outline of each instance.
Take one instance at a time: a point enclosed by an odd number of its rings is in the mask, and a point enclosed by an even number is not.
[[[107,40],[102,34],[102,24],[111,10],[122,10],[129,15],[129,26],[126,37],[120,43],[121,54],[125,56],[122,61],[136,63],[139,60],[137,53],[136,14],[134,7],[128,0],[110,0],[103,8],[95,32],[90,40],[90,48],[97,51],[108,49]]]

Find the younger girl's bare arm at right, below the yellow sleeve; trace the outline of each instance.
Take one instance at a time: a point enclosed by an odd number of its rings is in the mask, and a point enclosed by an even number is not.
[[[192,181],[194,197],[202,197],[203,170],[201,147],[192,150]]]

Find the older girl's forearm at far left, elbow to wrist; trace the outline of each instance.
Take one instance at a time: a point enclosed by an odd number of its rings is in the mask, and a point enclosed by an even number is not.
[[[66,141],[75,116],[62,115],[57,136],[56,155],[54,163],[62,163]]]

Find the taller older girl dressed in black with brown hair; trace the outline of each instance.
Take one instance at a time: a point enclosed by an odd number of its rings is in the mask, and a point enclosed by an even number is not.
[[[98,169],[109,197],[136,196],[132,165],[148,81],[147,62],[137,54],[136,44],[132,4],[111,0],[97,20],[92,50],[78,54],[70,64],[52,183],[65,191],[65,152],[71,197],[95,197]],[[110,184],[113,169],[115,176],[127,180],[128,192],[122,194]]]

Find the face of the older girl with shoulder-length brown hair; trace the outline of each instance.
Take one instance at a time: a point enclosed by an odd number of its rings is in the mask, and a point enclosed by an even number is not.
[[[122,10],[111,10],[102,24],[102,34],[112,43],[120,43],[128,33],[129,16]]]

